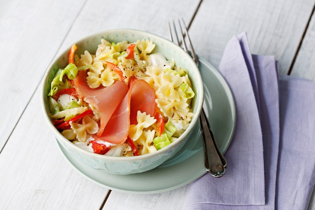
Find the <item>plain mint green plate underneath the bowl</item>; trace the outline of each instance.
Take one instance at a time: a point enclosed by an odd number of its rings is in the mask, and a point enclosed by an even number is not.
[[[222,153],[229,147],[235,129],[236,109],[230,88],[221,74],[199,58],[204,82],[203,108]],[[162,165],[143,173],[118,175],[91,168],[77,160],[57,141],[60,150],[86,178],[111,190],[134,194],[160,193],[191,183],[206,173],[199,125],[175,156]],[[228,168],[227,168],[228,170]]]

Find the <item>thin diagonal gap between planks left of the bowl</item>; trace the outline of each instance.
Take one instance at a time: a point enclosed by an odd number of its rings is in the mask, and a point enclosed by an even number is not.
[[[79,10],[79,12],[77,13],[77,15],[75,16],[75,18],[73,19],[72,24],[71,24],[71,26],[69,27],[69,30],[67,31],[65,37],[62,39],[62,41],[61,41],[61,43],[60,43],[60,45],[59,45],[59,47],[58,47],[56,53],[54,54],[53,58],[51,59],[50,63],[53,62],[54,58],[57,56],[57,53],[59,52],[59,50],[60,50],[62,44],[65,42],[66,37],[67,37],[68,34],[70,33],[70,31],[71,31],[71,29],[72,29],[72,26],[73,26],[74,23],[76,22],[78,16],[79,16],[80,13],[82,12],[82,10],[83,10],[84,6],[86,5],[87,1],[88,1],[88,0],[85,0],[85,1],[83,2],[82,6],[81,6],[81,8],[80,8],[80,10]],[[49,65],[50,65],[50,63],[49,63]],[[48,68],[48,66],[47,66],[47,68]],[[7,142],[9,141],[9,139],[10,139],[10,137],[11,137],[11,135],[12,135],[14,129],[16,128],[16,125],[19,123],[19,121],[20,121],[22,115],[24,114],[24,112],[25,112],[25,110],[26,110],[26,107],[29,105],[31,99],[33,98],[33,96],[34,96],[34,94],[35,94],[35,92],[36,92],[36,90],[37,90],[39,84],[42,83],[42,80],[43,80],[43,77],[44,77],[45,73],[46,73],[46,71],[44,71],[44,74],[43,74],[43,76],[41,77],[41,79],[39,80],[39,82],[38,82],[36,88],[34,89],[34,91],[33,91],[32,95],[31,95],[30,99],[27,101],[27,104],[26,104],[26,106],[24,107],[24,109],[23,109],[23,111],[22,111],[22,113],[21,113],[21,115],[20,115],[18,121],[15,123],[15,125],[14,125],[14,127],[13,127],[13,129],[12,129],[12,131],[11,131],[11,133],[10,133],[10,135],[8,136],[8,138],[6,139],[6,141],[5,141],[4,145],[3,145],[3,147],[1,148],[0,154],[1,154],[1,152],[3,151],[3,148],[5,147],[5,145],[7,144]]]

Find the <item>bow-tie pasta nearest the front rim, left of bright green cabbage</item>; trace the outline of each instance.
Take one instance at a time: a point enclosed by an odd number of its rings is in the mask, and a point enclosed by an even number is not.
[[[154,130],[143,131],[139,139],[137,139],[136,142],[138,143],[138,148],[141,145],[139,149],[140,155],[145,155],[157,151],[155,146],[151,145],[153,142],[154,135],[155,135]]]

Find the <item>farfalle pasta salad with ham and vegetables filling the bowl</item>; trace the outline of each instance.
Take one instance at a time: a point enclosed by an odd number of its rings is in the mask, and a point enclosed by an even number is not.
[[[69,52],[48,93],[51,119],[82,149],[107,156],[146,155],[189,127],[194,91],[188,71],[154,53],[151,40],[101,39],[95,54]]]

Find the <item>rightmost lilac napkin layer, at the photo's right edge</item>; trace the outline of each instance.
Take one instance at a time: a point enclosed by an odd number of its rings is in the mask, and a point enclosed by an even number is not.
[[[276,209],[307,209],[315,184],[315,82],[280,77]]]

